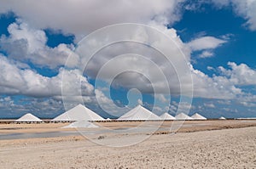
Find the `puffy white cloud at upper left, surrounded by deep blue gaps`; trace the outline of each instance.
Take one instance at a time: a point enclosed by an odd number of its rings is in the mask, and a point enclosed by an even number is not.
[[[33,29],[30,25],[18,20],[8,27],[9,37],[0,38],[0,49],[10,58],[30,61],[34,65],[51,69],[65,65],[69,54],[73,54],[73,45],[59,44],[55,48],[46,45],[47,37],[42,30]],[[79,57],[73,54],[73,60],[67,66],[78,65]]]

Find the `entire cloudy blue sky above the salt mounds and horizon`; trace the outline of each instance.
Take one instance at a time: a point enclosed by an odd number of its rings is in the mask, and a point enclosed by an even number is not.
[[[119,108],[125,111],[137,104],[149,110],[154,108],[158,115],[177,114],[183,97],[178,91],[177,76],[172,74],[172,66],[166,65],[148,46],[112,44],[95,54],[86,70],[78,69],[83,57],[88,57],[86,52],[79,55],[76,50],[84,36],[104,26],[126,22],[153,26],[180,45],[193,78],[193,84],[186,84],[194,88],[189,115],[199,112],[208,118],[256,116],[256,1],[161,0],[148,1],[146,7],[143,1],[129,5],[119,1],[63,1],[59,8],[47,1],[28,2],[34,8],[12,2],[0,7],[0,118],[15,118],[27,112],[43,118],[55,117],[79,104],[79,96],[83,104],[104,117],[119,116]],[[115,3],[118,5],[113,6]],[[100,12],[95,14],[90,8]],[[95,38],[96,44],[101,42]],[[171,44],[164,45],[171,48]],[[144,54],[158,65],[165,73],[171,94],[157,93],[154,97],[150,85],[160,84],[159,75],[147,62],[134,63],[135,56],[120,58],[116,70],[130,66],[148,74],[127,71],[109,82],[112,73],[116,73],[114,66],[105,70],[106,75],[96,86],[103,65],[119,54],[130,53]],[[74,58],[67,65],[70,54]],[[175,66],[181,65],[177,62]],[[180,73],[187,78],[184,72]],[[64,99],[64,104],[63,75],[68,77],[67,93],[73,93]],[[186,109],[189,103],[183,106]]]

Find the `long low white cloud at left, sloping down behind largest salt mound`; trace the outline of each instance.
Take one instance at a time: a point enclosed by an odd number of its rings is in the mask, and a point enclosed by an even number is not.
[[[9,107],[9,112],[12,112],[12,109],[19,112],[34,111],[38,115],[45,110],[49,115],[53,115],[60,112],[60,110],[64,111],[63,104],[68,110],[80,103],[90,104],[95,109],[99,109],[100,105],[104,106],[112,115],[122,113],[116,109],[112,99],[106,97],[102,91],[94,90],[94,87],[82,75],[80,70],[61,68],[56,76],[47,77],[38,74],[35,70],[20,68],[19,65],[18,62],[13,62],[0,55],[0,94],[23,95],[34,99],[25,100],[25,104],[15,104],[10,97],[6,97],[0,99],[2,109]],[[41,101],[40,99],[44,100]],[[64,100],[63,104],[62,99]],[[29,109],[32,105],[34,107]],[[40,106],[42,106],[41,109],[39,109]],[[54,109],[50,110],[50,107]],[[14,112],[12,113],[12,115],[15,115]]]

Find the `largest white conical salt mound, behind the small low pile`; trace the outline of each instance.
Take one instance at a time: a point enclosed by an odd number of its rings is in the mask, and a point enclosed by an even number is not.
[[[92,110],[82,104],[79,104],[66,111],[65,113],[55,117],[52,121],[105,121],[100,115],[97,115]]]

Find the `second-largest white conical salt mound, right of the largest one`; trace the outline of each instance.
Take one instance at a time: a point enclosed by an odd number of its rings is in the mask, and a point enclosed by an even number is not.
[[[154,115],[151,111],[143,108],[141,105],[137,105],[134,109],[125,113],[119,117],[121,121],[160,121],[161,118],[158,115]]]

